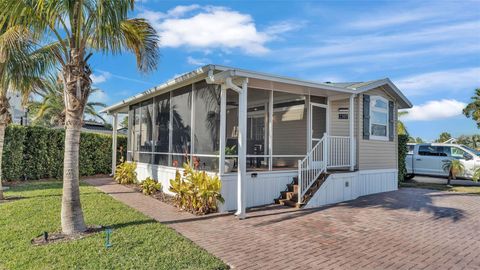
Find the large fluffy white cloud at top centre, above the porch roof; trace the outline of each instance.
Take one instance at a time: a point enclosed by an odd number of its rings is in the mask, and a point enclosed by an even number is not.
[[[296,29],[292,23],[281,22],[260,31],[249,14],[219,6],[177,6],[166,13],[144,10],[140,16],[157,29],[160,46],[226,52],[240,49],[253,55],[268,52],[268,41]]]

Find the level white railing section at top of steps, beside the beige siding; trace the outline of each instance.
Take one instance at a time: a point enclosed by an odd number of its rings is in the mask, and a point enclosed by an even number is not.
[[[328,145],[328,168],[350,166],[350,137],[327,136]]]

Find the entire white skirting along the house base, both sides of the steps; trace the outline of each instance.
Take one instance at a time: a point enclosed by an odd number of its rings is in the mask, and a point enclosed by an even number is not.
[[[137,163],[137,177],[140,181],[147,177],[162,183],[167,194],[170,179],[175,177],[175,168]],[[214,173],[209,173],[214,174]],[[296,171],[248,172],[246,179],[246,206],[254,207],[272,204],[287,188],[287,184],[297,176]],[[360,196],[397,190],[398,171],[368,170],[331,174],[320,189],[310,199],[305,208],[319,207],[343,201],[356,199]],[[220,176],[222,181],[222,196],[225,203],[220,205],[220,211],[237,209],[237,174],[230,173]]]

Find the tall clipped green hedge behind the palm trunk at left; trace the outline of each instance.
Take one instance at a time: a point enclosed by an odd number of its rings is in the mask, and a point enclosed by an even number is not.
[[[61,179],[65,132],[37,126],[9,125],[5,131],[2,159],[2,179],[36,180]],[[118,147],[125,156],[126,136],[118,136]],[[80,135],[80,175],[111,172],[112,136],[97,133]],[[118,160],[117,160],[118,163]]]

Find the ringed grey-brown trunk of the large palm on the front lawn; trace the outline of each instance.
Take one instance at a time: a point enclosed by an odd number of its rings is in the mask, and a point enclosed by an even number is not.
[[[65,121],[65,154],[63,160],[62,232],[76,234],[86,230],[80,203],[79,150],[81,119]]]

